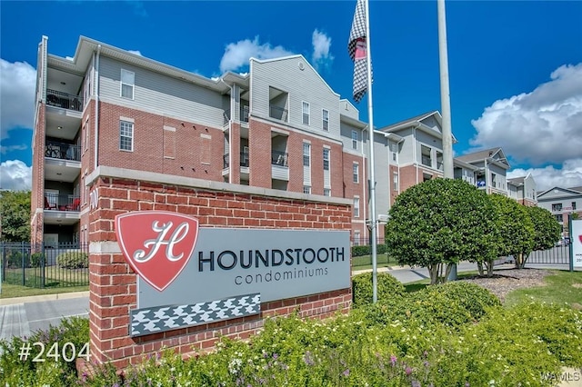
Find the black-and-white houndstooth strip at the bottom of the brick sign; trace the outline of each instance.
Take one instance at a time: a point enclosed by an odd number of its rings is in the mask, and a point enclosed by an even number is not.
[[[129,335],[166,332],[203,323],[215,323],[261,312],[261,294],[237,295],[223,300],[190,305],[134,309],[129,317]]]

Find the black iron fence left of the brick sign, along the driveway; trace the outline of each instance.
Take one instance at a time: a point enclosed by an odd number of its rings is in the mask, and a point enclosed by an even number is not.
[[[89,285],[89,249],[79,243],[0,243],[2,283],[33,288]]]

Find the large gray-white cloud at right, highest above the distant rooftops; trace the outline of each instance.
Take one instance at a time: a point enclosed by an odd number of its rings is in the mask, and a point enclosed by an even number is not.
[[[498,100],[471,123],[470,144],[501,146],[518,162],[561,164],[582,155],[582,63],[562,65],[530,93]]]

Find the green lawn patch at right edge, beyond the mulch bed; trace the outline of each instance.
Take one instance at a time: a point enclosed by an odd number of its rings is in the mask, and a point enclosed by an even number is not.
[[[582,308],[582,272],[553,270],[545,278],[543,286],[517,289],[506,297],[506,305],[528,300],[541,303],[567,303],[577,309]]]

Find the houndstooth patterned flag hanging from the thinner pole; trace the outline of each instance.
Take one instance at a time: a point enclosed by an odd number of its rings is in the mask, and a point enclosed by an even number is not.
[[[356,13],[349,34],[347,51],[354,61],[354,101],[359,103],[367,92],[366,0],[357,0]],[[371,73],[371,69],[370,69]]]

